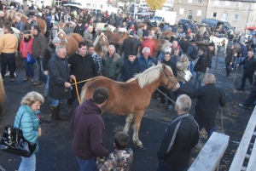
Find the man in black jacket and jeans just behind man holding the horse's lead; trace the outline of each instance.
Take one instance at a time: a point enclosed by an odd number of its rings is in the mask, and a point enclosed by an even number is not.
[[[204,78],[207,71],[207,54],[206,54],[207,48],[202,46],[198,49],[199,49],[198,50],[199,59],[197,60],[194,67],[194,71],[196,72],[194,90],[196,88],[200,88],[201,86],[203,86]]]

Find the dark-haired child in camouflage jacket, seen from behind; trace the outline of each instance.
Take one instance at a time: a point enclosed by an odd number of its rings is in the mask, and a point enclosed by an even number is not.
[[[126,148],[129,144],[130,136],[125,132],[118,132],[114,135],[113,146],[116,149],[109,154],[105,159],[97,161],[97,168],[99,171],[129,171],[131,170],[131,163],[133,158],[133,151],[131,148]]]

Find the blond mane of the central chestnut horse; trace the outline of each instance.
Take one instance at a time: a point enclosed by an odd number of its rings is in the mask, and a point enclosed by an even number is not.
[[[170,66],[166,66],[166,68],[172,71]],[[157,66],[152,66],[147,70],[143,71],[143,73],[139,73],[135,77],[128,80],[127,83],[137,80],[140,88],[143,88],[146,85],[153,83],[155,80],[157,80],[160,77],[161,71],[163,71],[162,64],[158,64]]]

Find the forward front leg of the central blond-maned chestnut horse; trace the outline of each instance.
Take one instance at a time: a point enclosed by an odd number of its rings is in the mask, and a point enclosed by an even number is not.
[[[143,148],[143,143],[138,139],[138,132],[140,130],[141,121],[144,115],[144,111],[134,112],[134,132],[133,132],[133,143],[139,148]]]

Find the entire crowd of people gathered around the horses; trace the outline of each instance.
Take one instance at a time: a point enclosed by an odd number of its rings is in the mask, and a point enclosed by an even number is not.
[[[28,7],[26,24],[22,23],[19,16],[15,18],[15,28],[23,33],[19,44],[17,38],[12,34],[11,27],[6,25],[3,14],[6,9],[24,13],[26,10],[20,3],[12,2],[10,6],[3,2],[0,4],[0,10],[2,10],[0,11],[0,27],[3,28],[4,32],[4,35],[0,37],[3,81],[6,81],[6,77],[9,75],[10,81],[15,82],[15,53],[18,49],[25,65],[26,77],[23,81],[44,88],[43,95],[37,92],[26,94],[15,117],[15,127],[18,128],[19,123],[21,123],[20,129],[22,129],[23,134],[26,134],[26,140],[38,144],[38,137],[42,135],[37,115],[40,105],[44,103],[44,97],[49,95],[52,99],[50,105],[51,127],[56,128],[57,120],[67,120],[60,113],[62,100],[67,100],[68,113],[74,111],[72,106],[78,98],[77,91],[80,94],[83,87],[82,83],[78,84],[77,87],[72,87],[71,84],[75,81],[80,82],[93,77],[104,76],[113,81],[126,82],[137,73],[142,73],[157,65],[158,62],[170,66],[178,81],[174,92],[166,87],[160,87],[160,91],[168,97],[166,110],[171,111],[173,102],[176,101],[174,108],[177,111],[177,117],[166,128],[166,134],[157,153],[158,171],[187,169],[190,151],[199,140],[199,131],[206,128],[208,138],[216,131],[218,105],[224,106],[227,100],[224,92],[215,85],[216,78],[214,75],[208,73],[212,64],[214,43],[209,43],[207,47],[198,47],[193,36],[196,25],[193,25],[195,27],[191,29],[191,32],[189,29],[186,30],[188,34],[177,34],[177,38],[172,37],[172,39],[164,37],[160,53],[154,58],[156,48],[153,38],[157,35],[154,31],[148,31],[147,26],[138,28],[137,21],[131,15],[108,14],[108,12],[102,13],[98,10],[67,9],[62,6],[56,8],[46,6],[44,9],[38,9],[32,4],[31,7]],[[45,35],[41,33],[38,26],[38,16],[35,11],[47,24],[48,33]],[[142,19],[141,16],[139,18]],[[67,23],[66,34],[74,32],[84,37],[84,41],[79,43],[77,51],[68,58],[67,48],[60,45],[61,39],[56,36],[59,21],[73,21],[76,26],[72,29]],[[104,28],[112,25],[117,27],[116,31],[122,27],[129,31],[129,37],[124,40],[121,46],[122,54],[118,54],[113,45],[108,46],[108,53],[104,54],[102,59],[99,54],[96,54],[95,47],[92,45],[94,35],[91,25],[94,22],[106,23]],[[161,31],[165,30],[171,30],[170,26],[162,23]],[[206,35],[208,35],[207,32]],[[147,37],[147,40],[141,43],[138,40],[140,37]],[[241,66],[243,75],[241,87],[238,89],[243,90],[245,88],[247,78],[253,84],[253,89],[247,100],[240,106],[250,109],[256,97],[255,82],[253,83],[256,59],[253,57],[251,46],[244,41],[245,39],[242,41],[235,39],[234,43],[230,44],[225,58],[226,77],[230,77],[233,68],[236,69],[236,67]],[[138,51],[139,47],[142,52]],[[38,82],[35,82],[34,78],[34,64],[28,62],[27,54],[32,54],[37,64]],[[183,88],[183,83],[188,82],[184,79],[183,74],[188,70],[195,77],[193,91]],[[6,73],[7,71],[9,73]],[[128,134],[125,132],[115,134],[113,143],[116,150],[110,154],[102,146],[102,134],[105,125],[101,114],[104,112],[102,106],[108,100],[108,95],[108,89],[96,88],[92,99],[85,100],[84,103],[76,107],[73,113],[71,127],[74,140],[72,148],[81,171],[131,169],[133,151],[126,148],[130,140]],[[160,108],[165,108],[164,94],[156,91],[152,97],[160,100],[158,105]],[[195,118],[189,117],[191,99],[197,99]],[[23,115],[22,118],[21,115]],[[31,157],[21,158],[19,170],[36,169],[35,154],[32,154]]]

